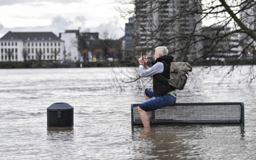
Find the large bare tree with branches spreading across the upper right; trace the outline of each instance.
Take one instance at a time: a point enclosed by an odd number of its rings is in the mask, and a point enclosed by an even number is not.
[[[135,6],[132,10],[119,8],[121,16],[134,19],[130,34],[135,46],[130,51],[133,55],[129,56],[135,62],[138,51],[143,50],[150,57],[155,47],[166,46],[176,61],[192,65],[207,56],[218,60],[231,55],[230,72],[248,56],[247,63],[251,67],[255,64],[254,0],[125,0],[121,3]],[[256,78],[253,73],[248,75],[250,82]],[[129,78],[133,82],[140,77]]]

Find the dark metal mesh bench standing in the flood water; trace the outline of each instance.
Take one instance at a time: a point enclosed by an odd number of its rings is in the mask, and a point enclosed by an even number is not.
[[[137,107],[131,104],[132,127],[142,125]],[[150,124],[241,124],[245,125],[243,102],[175,103],[148,111]]]

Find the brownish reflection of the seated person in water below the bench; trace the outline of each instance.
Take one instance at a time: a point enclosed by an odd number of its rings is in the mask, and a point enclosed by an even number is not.
[[[139,134],[135,140],[140,141],[140,146],[134,149],[142,154],[141,159],[180,159],[180,154],[187,150],[172,126],[135,127],[134,133]]]

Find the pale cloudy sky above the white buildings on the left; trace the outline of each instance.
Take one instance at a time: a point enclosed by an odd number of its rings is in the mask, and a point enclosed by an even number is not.
[[[118,0],[0,0],[0,37],[8,31],[52,31],[58,36],[80,28],[100,37],[107,31],[118,39],[124,36],[128,17],[121,18],[117,7],[127,8]]]

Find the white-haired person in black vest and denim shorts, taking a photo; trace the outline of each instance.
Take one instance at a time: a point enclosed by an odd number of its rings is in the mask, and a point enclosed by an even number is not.
[[[139,69],[141,77],[151,77],[153,79],[153,88],[144,90],[146,101],[138,106],[138,112],[144,127],[150,127],[149,117],[146,111],[154,111],[161,107],[166,107],[176,102],[175,88],[168,84],[170,79],[170,63],[174,62],[172,56],[167,55],[168,49],[164,46],[155,48],[152,67],[147,66],[147,56],[139,58]],[[162,77],[164,76],[164,77]]]

